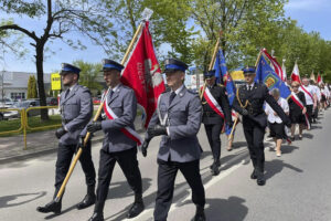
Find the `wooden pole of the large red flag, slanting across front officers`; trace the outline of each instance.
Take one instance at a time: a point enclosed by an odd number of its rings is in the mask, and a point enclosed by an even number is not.
[[[134,48],[134,44],[135,44],[135,42],[137,41],[138,35],[139,35],[140,32],[142,31],[143,24],[145,24],[145,21],[142,21],[142,22],[139,24],[139,27],[138,27],[138,29],[137,29],[137,31],[136,31],[136,33],[135,33],[135,35],[134,35],[134,38],[132,38],[132,40],[131,40],[129,46],[128,46],[128,49],[127,49],[127,52],[126,52],[125,56],[124,56],[122,60],[121,60],[121,64],[124,64],[124,63],[127,61],[127,59],[128,59],[128,56],[129,56],[129,54],[130,54],[130,52],[131,52],[131,50],[132,50],[132,48]],[[106,95],[104,96],[104,99],[105,99],[105,97],[107,96],[108,91],[109,91],[109,88],[107,90],[107,93],[106,93]],[[95,115],[94,118],[93,118],[93,122],[96,122],[96,120],[99,118],[99,116],[100,116],[100,114],[102,114],[102,110],[103,110],[103,108],[104,108],[104,99],[102,101],[100,106],[99,106],[99,108],[98,108],[96,115]],[[85,139],[84,139],[84,145],[83,145],[83,147],[86,146],[87,141],[89,140],[89,137],[90,137],[90,133],[87,133],[86,136],[85,136]],[[79,148],[78,151],[77,151],[77,154],[76,154],[76,156],[75,156],[75,158],[74,158],[74,160],[73,160],[73,162],[72,162],[72,165],[71,165],[71,167],[70,167],[70,170],[68,170],[68,172],[66,173],[65,179],[63,180],[62,186],[61,186],[61,188],[60,188],[60,190],[58,190],[58,192],[57,192],[57,194],[56,194],[56,198],[55,198],[55,201],[56,201],[56,202],[60,201],[60,199],[61,199],[61,197],[62,197],[62,194],[63,194],[63,192],[64,192],[65,186],[67,185],[68,179],[71,178],[71,176],[72,176],[72,173],[73,173],[73,171],[74,171],[74,169],[75,169],[75,167],[76,167],[76,164],[77,164],[77,161],[78,161],[78,159],[79,159],[82,152],[83,152],[83,148]]]

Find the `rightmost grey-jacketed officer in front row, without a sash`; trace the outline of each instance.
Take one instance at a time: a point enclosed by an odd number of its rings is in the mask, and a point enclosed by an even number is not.
[[[162,135],[158,155],[158,193],[154,220],[166,221],[171,206],[178,170],[192,189],[196,206],[195,221],[204,221],[205,196],[200,176],[201,147],[196,134],[201,126],[202,106],[196,93],[183,85],[188,65],[179,60],[166,60],[167,83],[171,91],[160,95],[142,145],[147,155],[150,139]]]

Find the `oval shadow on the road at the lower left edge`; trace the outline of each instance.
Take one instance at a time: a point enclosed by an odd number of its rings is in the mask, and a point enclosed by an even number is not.
[[[46,194],[45,191],[35,193],[20,193],[0,197],[0,208],[10,208],[29,203]],[[18,201],[10,203],[11,201]]]

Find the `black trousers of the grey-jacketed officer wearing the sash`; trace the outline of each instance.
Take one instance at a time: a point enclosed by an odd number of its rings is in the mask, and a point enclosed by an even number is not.
[[[118,152],[107,152],[106,150],[102,149],[98,171],[97,199],[94,209],[96,212],[104,211],[105,201],[108,196],[109,185],[116,162],[118,162],[119,167],[121,168],[134,192],[136,194],[142,193],[142,181],[138,167],[137,148],[134,147],[131,149]]]

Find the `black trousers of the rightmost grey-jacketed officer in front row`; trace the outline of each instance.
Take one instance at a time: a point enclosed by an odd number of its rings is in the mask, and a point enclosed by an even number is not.
[[[174,179],[180,170],[192,189],[192,201],[204,207],[204,188],[200,176],[200,160],[173,162],[158,159],[158,193],[156,199],[154,220],[166,221],[172,202]]]

